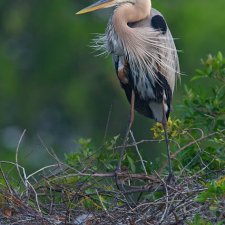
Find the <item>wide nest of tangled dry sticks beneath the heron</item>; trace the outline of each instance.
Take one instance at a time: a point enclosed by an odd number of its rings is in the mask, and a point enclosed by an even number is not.
[[[52,156],[54,164],[29,175],[17,160],[1,161],[0,224],[172,225],[196,215],[216,224],[225,218],[224,195],[216,203],[196,200],[208,190],[202,177],[208,165],[194,174],[176,171],[168,183],[159,171],[100,172],[92,164],[78,170]],[[207,171],[216,179],[224,172]]]

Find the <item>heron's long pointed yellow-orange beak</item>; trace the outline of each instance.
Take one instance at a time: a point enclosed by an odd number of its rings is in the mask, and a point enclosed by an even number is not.
[[[79,12],[77,12],[76,14],[84,14],[84,13],[88,13],[88,12],[92,12],[98,9],[105,9],[105,8],[109,8],[112,6],[116,5],[116,0],[100,0],[82,10],[80,10]]]

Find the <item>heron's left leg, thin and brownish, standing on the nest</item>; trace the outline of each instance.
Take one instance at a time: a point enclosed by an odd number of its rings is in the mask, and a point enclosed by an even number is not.
[[[132,89],[131,102],[130,102],[130,115],[129,115],[128,126],[127,126],[127,129],[126,129],[125,137],[124,137],[124,140],[123,140],[123,145],[120,148],[120,158],[119,158],[118,165],[117,165],[117,168],[116,168],[117,172],[121,171],[121,164],[122,164],[122,161],[123,161],[123,156],[124,156],[124,152],[125,152],[126,145],[127,145],[127,138],[128,138],[128,135],[130,133],[130,129],[131,129],[133,121],[134,121],[134,103],[135,103],[135,93],[134,93],[134,90]]]

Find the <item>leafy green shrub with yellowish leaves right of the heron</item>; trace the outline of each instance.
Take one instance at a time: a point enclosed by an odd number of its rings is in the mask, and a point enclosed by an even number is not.
[[[197,70],[192,82],[197,88],[185,86],[185,96],[179,105],[179,119],[168,122],[168,132],[175,152],[176,169],[184,168],[192,172],[202,170],[220,170],[225,166],[225,58],[219,52],[217,56],[208,56],[202,60],[203,68]],[[199,86],[200,85],[200,86]],[[201,91],[204,87],[205,92]],[[163,138],[161,124],[152,129],[154,137]],[[176,151],[179,152],[176,153]],[[207,165],[207,166],[206,166]]]

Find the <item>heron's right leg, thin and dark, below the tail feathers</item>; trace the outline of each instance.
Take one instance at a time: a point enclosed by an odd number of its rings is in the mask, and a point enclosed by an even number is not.
[[[163,120],[162,120],[163,130],[164,130],[164,137],[166,141],[166,152],[167,152],[167,160],[168,160],[168,170],[169,175],[167,177],[167,183],[170,183],[171,180],[174,181],[174,173],[172,168],[172,162],[171,162],[171,155],[170,155],[170,146],[169,146],[169,138],[167,133],[167,118],[166,118],[166,112],[164,108],[164,101],[163,101]]]

